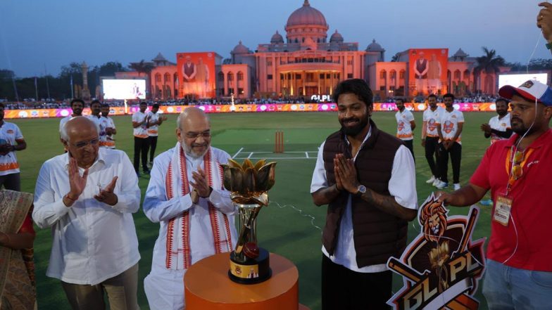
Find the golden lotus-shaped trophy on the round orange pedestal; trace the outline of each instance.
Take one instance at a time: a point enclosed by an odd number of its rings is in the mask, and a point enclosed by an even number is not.
[[[268,206],[268,190],[275,182],[276,162],[256,164],[246,159],[244,164],[229,160],[223,164],[224,186],[238,209],[239,238],[236,249],[230,253],[230,280],[242,284],[255,284],[272,276],[269,253],[257,246],[257,216]]]

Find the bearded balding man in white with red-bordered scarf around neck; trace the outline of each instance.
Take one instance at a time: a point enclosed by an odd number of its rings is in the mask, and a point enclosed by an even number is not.
[[[183,309],[187,269],[234,249],[235,207],[222,186],[230,155],[211,147],[211,124],[198,108],[177,120],[177,144],[153,160],[144,198],[146,217],[160,224],[144,290],[151,309]]]

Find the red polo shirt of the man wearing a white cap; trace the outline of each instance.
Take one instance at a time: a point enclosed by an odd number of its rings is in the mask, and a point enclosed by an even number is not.
[[[517,136],[493,143],[470,179],[476,186],[490,188],[494,202],[506,191],[511,167],[508,155]],[[494,207],[491,212],[487,257],[503,263],[513,254],[506,265],[552,271],[552,130],[539,136],[525,154],[523,174],[509,194],[513,205],[508,226],[492,220]]]

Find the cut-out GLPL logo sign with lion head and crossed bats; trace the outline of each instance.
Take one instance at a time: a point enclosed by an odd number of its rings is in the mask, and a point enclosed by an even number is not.
[[[391,257],[387,267],[403,276],[404,286],[387,302],[394,309],[471,309],[484,271],[485,239],[472,241],[479,208],[468,217],[452,216],[432,193],[418,211],[420,234],[400,259]]]

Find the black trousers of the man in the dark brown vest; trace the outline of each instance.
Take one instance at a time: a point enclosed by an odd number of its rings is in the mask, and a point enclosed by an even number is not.
[[[322,254],[322,310],[391,309],[391,271],[360,273]]]

